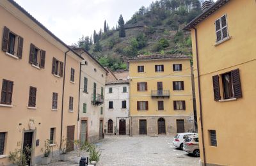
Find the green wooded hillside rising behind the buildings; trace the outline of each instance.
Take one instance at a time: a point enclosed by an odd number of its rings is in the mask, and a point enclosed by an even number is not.
[[[191,55],[190,33],[182,27],[201,12],[198,0],[159,0],[134,13],[124,24],[125,37],[119,35],[122,26],[109,29],[105,22],[104,32],[94,32],[94,44],[87,37],[87,45],[80,39],[78,47],[85,47],[112,70],[125,69],[124,59],[138,54]]]

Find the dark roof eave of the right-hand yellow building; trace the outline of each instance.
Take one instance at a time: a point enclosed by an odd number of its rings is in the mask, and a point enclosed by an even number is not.
[[[199,24],[199,22],[201,22],[202,20],[204,20],[207,17],[209,17],[209,15],[214,13],[214,11],[218,10],[223,5],[228,3],[228,1],[230,1],[230,0],[218,0],[218,1],[216,1],[216,3],[214,3],[209,9],[205,10],[202,14],[198,15],[198,17],[196,17],[195,19],[191,20],[191,22],[189,22],[189,24],[186,25],[184,27],[184,29],[185,30],[189,30],[192,27],[195,27],[197,24]]]

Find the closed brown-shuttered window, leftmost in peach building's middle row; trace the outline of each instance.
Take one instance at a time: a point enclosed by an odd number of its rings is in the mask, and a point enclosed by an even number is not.
[[[12,90],[13,82],[10,80],[3,80],[2,93],[1,93],[1,104],[12,104]]]

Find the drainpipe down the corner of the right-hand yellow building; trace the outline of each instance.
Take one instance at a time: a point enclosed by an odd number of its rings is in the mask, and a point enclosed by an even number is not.
[[[193,29],[195,29],[195,40],[196,40],[196,68],[197,68],[197,81],[198,81],[200,123],[201,123],[202,144],[203,144],[203,153],[204,153],[204,166],[206,166],[205,145],[204,145],[204,125],[203,125],[203,112],[202,112],[202,97],[201,97],[201,89],[200,89],[200,73],[199,73],[199,63],[198,63],[197,30],[196,30],[195,27],[193,27]]]

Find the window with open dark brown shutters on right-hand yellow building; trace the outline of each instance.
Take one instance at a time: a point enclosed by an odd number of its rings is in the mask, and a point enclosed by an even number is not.
[[[219,79],[220,79],[219,75],[212,76],[215,101],[221,100]],[[222,80],[222,89],[223,89],[223,99],[242,97],[239,69],[221,74],[221,80]]]

